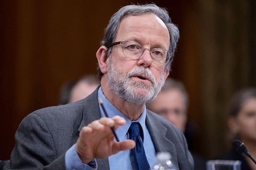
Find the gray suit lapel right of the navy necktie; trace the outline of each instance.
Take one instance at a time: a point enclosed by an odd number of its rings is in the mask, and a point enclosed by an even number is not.
[[[156,118],[156,115],[148,112],[146,116],[146,126],[148,128],[150,137],[155,146],[156,153],[157,152],[170,152],[172,156],[172,161],[174,161],[178,165],[177,154],[175,145],[166,138],[166,133],[168,133],[167,128],[161,124],[159,119]]]

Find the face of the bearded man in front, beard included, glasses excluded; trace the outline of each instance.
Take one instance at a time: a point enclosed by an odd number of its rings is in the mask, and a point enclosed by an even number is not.
[[[163,21],[155,14],[128,16],[121,21],[115,41],[131,41],[144,48],[169,49],[170,36]],[[120,97],[143,104],[153,100],[160,91],[168,72],[165,65],[152,63],[148,50],[138,59],[123,54],[116,45],[108,58],[108,85]]]

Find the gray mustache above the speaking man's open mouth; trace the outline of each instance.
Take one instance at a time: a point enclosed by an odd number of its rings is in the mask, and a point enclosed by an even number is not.
[[[146,77],[153,85],[156,84],[156,79],[153,76],[152,72],[148,69],[148,68],[144,68],[144,67],[136,67],[132,70],[130,70],[127,74],[126,74],[126,78],[131,78],[133,76],[136,75],[140,75],[140,76],[144,76]]]

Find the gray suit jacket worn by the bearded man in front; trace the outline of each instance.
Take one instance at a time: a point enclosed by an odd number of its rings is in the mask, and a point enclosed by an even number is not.
[[[20,123],[11,161],[4,169],[65,169],[65,152],[76,143],[79,131],[100,117],[98,88],[75,103],[36,110]],[[193,158],[178,128],[149,110],[146,126],[156,152],[170,152],[176,167],[193,169]],[[96,160],[98,169],[109,169],[108,158]]]

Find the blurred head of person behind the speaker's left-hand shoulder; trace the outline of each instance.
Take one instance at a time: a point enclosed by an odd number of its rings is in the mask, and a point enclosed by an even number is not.
[[[100,85],[99,79],[94,75],[85,75],[78,80],[71,80],[61,86],[59,105],[73,103],[84,99]]]

